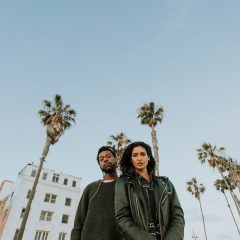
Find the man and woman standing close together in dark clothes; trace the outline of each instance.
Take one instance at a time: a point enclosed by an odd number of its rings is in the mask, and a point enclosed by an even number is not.
[[[98,150],[103,180],[84,190],[71,240],[183,240],[184,216],[177,193],[167,177],[154,175],[151,147],[128,145],[116,172],[116,152]]]

